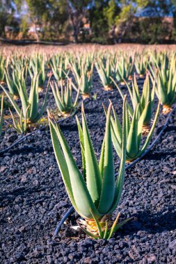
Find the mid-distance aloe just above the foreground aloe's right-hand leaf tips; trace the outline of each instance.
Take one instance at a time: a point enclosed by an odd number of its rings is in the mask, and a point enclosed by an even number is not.
[[[102,60],[97,59],[95,67],[99,74],[99,78],[102,81],[104,90],[111,90],[113,88],[113,82],[110,77],[115,78],[115,71],[112,67],[111,58],[106,58],[105,61],[104,58]]]

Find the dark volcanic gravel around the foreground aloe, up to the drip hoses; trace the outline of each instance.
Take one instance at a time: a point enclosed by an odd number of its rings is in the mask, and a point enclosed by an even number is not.
[[[98,156],[105,124],[102,102],[107,106],[110,98],[118,112],[122,112],[118,92],[104,92],[100,87],[95,79],[97,100],[85,106]],[[160,115],[158,128],[165,119]],[[81,168],[75,118],[63,122],[61,129]],[[131,216],[134,220],[109,241],[95,241],[72,231],[70,224],[75,224],[77,213],[69,217],[56,240],[51,241],[56,223],[70,208],[70,201],[49,131],[38,131],[3,154],[0,157],[1,263],[176,263],[175,132],[174,113],[150,154],[127,170],[116,213],[121,212],[121,220]]]

